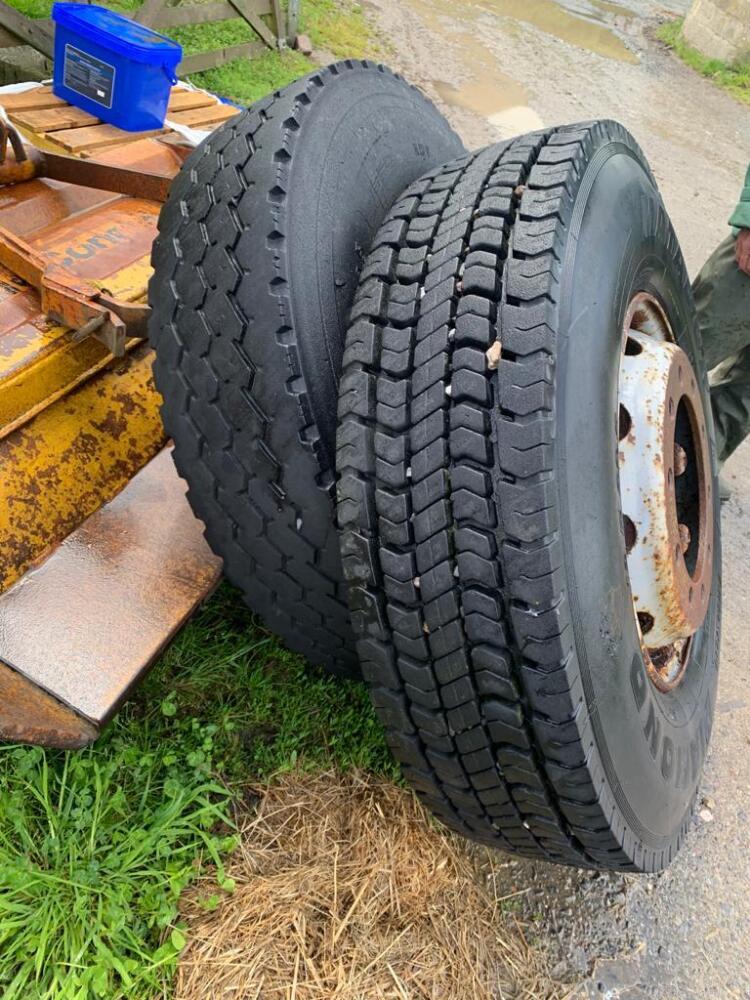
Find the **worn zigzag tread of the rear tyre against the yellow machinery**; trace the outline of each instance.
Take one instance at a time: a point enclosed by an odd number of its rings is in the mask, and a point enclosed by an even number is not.
[[[336,77],[362,69],[395,76],[367,61],[321,69],[254,104],[191,154],[160,218],[150,288],[163,419],[210,546],[222,555],[228,579],[291,648],[351,676],[359,666],[330,515],[334,471],[301,369],[285,211],[305,117]],[[274,119],[273,128],[264,127]],[[245,168],[256,147],[273,159],[264,193],[269,213],[252,211],[251,195],[260,192],[249,191]],[[242,287],[247,241],[273,262],[253,301]],[[181,309],[193,310],[202,327],[180,321]],[[275,317],[271,344],[247,344],[244,331],[256,311]],[[232,357],[217,366],[213,352],[221,350]],[[257,377],[258,355],[278,378]],[[236,385],[226,384],[230,367]],[[312,488],[300,487],[303,477]]]

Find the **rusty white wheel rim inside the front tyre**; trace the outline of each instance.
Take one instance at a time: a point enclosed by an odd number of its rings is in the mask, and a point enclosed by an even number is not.
[[[618,471],[633,611],[649,677],[682,681],[711,595],[713,497],[698,381],[657,300],[631,300],[623,322]]]

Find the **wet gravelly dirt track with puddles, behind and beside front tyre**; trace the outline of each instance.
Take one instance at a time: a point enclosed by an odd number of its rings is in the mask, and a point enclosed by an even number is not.
[[[726,234],[750,158],[750,109],[678,63],[652,31],[688,0],[369,0],[389,62],[448,114],[467,146],[616,118],[654,169],[691,274]],[[728,465],[722,675],[701,817],[656,878],[509,861],[576,997],[750,998],[750,444]]]

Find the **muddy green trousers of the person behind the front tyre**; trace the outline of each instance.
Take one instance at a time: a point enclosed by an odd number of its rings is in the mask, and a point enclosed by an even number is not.
[[[734,240],[722,240],[693,283],[719,464],[750,434],[750,277],[737,267]]]

